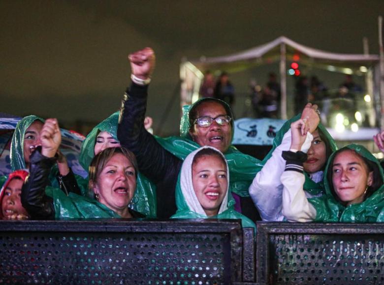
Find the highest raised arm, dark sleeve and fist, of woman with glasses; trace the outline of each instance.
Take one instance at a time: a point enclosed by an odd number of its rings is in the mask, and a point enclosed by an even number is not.
[[[123,98],[117,137],[135,154],[140,172],[157,183],[166,179],[175,168],[180,168],[181,160],[165,150],[144,127],[148,84],[155,67],[153,50],[145,48],[128,58],[132,85]]]

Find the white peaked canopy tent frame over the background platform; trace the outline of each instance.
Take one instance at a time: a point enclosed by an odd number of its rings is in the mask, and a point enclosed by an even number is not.
[[[296,43],[293,40],[281,36],[266,44],[252,49],[223,57],[201,57],[199,60],[183,61],[180,65],[181,105],[195,102],[199,97],[199,87],[202,83],[203,73],[206,70],[228,71],[235,73],[253,68],[262,64],[280,62],[281,84],[281,118],[287,118],[287,61],[294,61],[293,57],[299,55],[298,62],[310,67],[326,69],[328,71],[345,74],[365,74],[366,91],[374,100],[373,104],[380,106],[380,74],[379,56],[368,54],[338,54],[317,50]],[[374,78],[376,80],[374,80]],[[376,83],[375,83],[376,82]],[[384,94],[382,94],[384,96]],[[380,110],[380,109],[379,109]]]

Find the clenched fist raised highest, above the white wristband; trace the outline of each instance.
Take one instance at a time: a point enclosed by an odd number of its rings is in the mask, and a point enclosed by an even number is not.
[[[131,72],[137,78],[146,80],[151,77],[155,69],[155,52],[145,48],[128,56]]]

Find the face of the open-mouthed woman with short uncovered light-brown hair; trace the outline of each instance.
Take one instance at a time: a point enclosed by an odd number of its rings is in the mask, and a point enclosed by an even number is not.
[[[93,186],[98,201],[123,216],[136,189],[133,165],[121,153],[116,153],[106,163]]]

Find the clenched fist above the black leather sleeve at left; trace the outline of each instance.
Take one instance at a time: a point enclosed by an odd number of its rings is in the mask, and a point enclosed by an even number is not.
[[[47,119],[40,132],[41,154],[54,157],[62,142],[59,123],[57,119]]]

